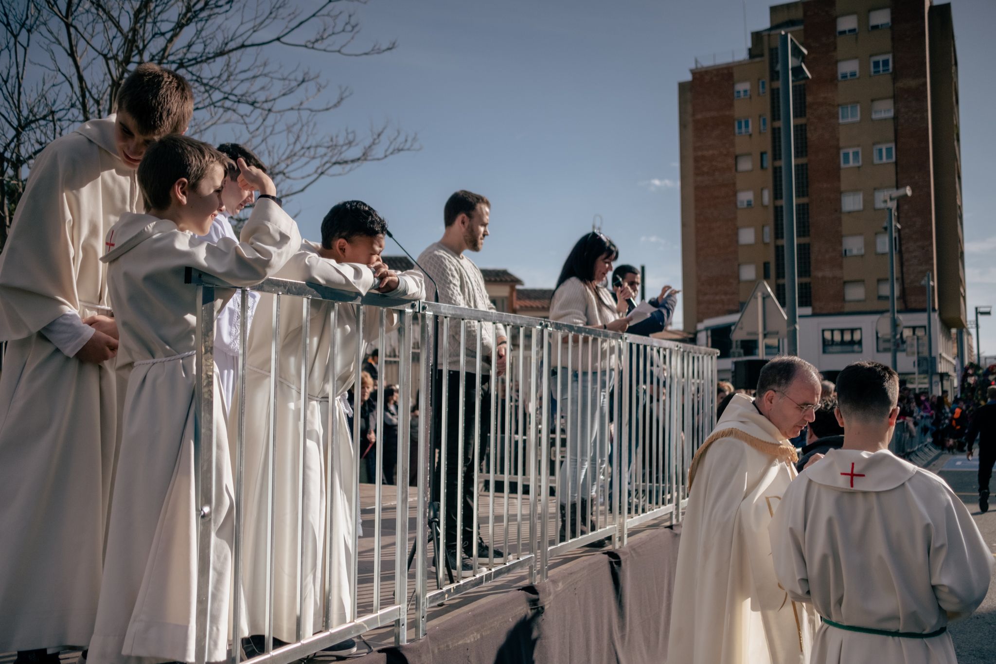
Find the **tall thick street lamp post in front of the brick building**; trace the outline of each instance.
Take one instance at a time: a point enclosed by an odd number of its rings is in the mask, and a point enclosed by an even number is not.
[[[803,64],[806,49],[787,32],[778,37],[782,111],[782,212],[785,224],[785,315],[788,353],[799,354],[799,274],[796,267],[796,166],[792,83],[813,78]],[[764,339],[760,340],[764,343]]]

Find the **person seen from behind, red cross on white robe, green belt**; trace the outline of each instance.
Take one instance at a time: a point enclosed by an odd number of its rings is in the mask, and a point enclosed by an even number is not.
[[[769,529],[782,586],[823,616],[814,663],[954,664],[947,622],[989,587],[992,554],[961,500],[888,451],[898,393],[883,364],[841,371],[844,447],[803,470]]]

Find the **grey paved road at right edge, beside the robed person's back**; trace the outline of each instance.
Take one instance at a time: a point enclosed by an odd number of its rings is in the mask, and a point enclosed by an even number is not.
[[[977,469],[976,460],[966,463],[963,454],[943,454],[929,466],[929,470],[944,478],[968,506],[989,550],[996,554],[996,501],[990,501],[986,514],[979,512]],[[989,594],[971,617],[951,623],[948,629],[959,664],[996,662],[996,583],[989,583]]]

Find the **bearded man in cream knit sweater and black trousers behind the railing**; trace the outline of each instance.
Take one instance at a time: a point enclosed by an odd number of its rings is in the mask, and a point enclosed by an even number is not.
[[[435,242],[421,253],[418,257],[418,264],[426,273],[426,296],[428,288],[433,283],[433,291],[437,296],[437,302],[444,305],[455,305],[468,309],[480,309],[484,311],[495,311],[494,305],[488,298],[484,287],[484,277],[474,263],[463,255],[465,251],[480,251],[484,246],[484,238],[488,234],[488,221],[491,214],[491,203],[480,194],[470,191],[460,190],[449,197],[443,210],[443,220],[446,228],[443,231],[442,239]],[[442,334],[441,324],[438,334]],[[476,393],[477,376],[474,374],[476,367],[477,336],[481,338],[481,394]],[[438,356],[436,361],[439,368],[436,370],[433,384],[433,436],[437,437],[441,425],[442,404],[439,402],[441,396],[441,382],[448,380],[446,389],[446,514],[443,515],[444,540],[446,557],[449,558],[449,567],[454,570],[457,577],[469,576],[473,573],[473,565],[466,559],[473,553],[474,524],[473,524],[473,496],[477,491],[474,483],[474,444],[484,445],[484,437],[474,441],[474,419],[477,404],[490,403],[489,397],[489,376],[491,361],[487,355],[492,355],[494,366],[499,375],[505,371],[505,357],[508,352],[508,342],[505,328],[497,325],[492,329],[490,324],[478,324],[467,322],[463,336],[465,351],[466,372],[464,375],[464,416],[463,416],[463,459],[458,459],[458,429],[460,427],[460,321],[452,319],[449,322],[449,342],[448,366],[442,367],[443,343],[438,343]],[[481,431],[489,431],[490,412],[487,408],[481,409]],[[438,444],[433,440],[433,444]],[[438,470],[435,481],[435,495],[432,500],[439,500],[439,489],[442,485],[438,477]],[[457,496],[457,478],[459,473],[463,473],[463,495]],[[457,531],[457,514],[462,510],[461,528]],[[457,561],[457,536],[459,535],[460,560]],[[505,561],[505,554],[497,549],[490,548],[479,536],[477,538],[477,557],[479,562],[486,562],[493,555],[496,563]]]

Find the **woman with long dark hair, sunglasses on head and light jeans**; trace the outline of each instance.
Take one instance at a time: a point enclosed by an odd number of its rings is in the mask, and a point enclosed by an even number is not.
[[[550,303],[550,320],[576,326],[625,332],[628,287],[617,290],[617,298],[605,286],[619,250],[608,237],[593,231],[574,245]],[[606,404],[615,368],[609,344],[589,336],[574,336],[568,352],[569,334],[561,334],[561,375],[553,390],[561,387],[562,411],[567,418],[567,456],[560,468],[560,539],[577,538],[596,530],[593,512],[598,506],[599,480],[609,458],[609,418]],[[554,348],[554,353],[557,349]],[[570,366],[568,372],[566,368]],[[566,394],[565,394],[566,392]],[[570,403],[570,405],[568,405]],[[581,524],[578,513],[581,513]]]

